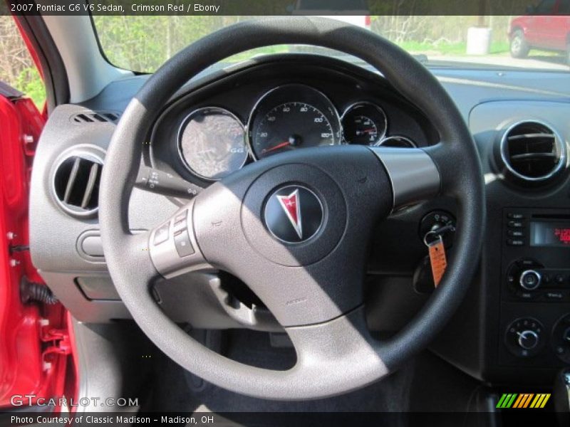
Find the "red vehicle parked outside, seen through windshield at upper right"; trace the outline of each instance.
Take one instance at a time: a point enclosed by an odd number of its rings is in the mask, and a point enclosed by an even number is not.
[[[525,58],[531,49],[560,51],[570,65],[570,0],[542,0],[528,12],[511,21],[511,56]]]

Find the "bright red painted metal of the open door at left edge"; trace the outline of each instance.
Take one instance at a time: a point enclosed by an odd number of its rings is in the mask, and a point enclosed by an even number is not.
[[[22,300],[23,289],[45,286],[28,251],[28,183],[43,124],[30,99],[0,83],[0,408],[27,406],[14,399],[26,394],[36,396],[31,404],[57,399],[75,384],[66,310]]]

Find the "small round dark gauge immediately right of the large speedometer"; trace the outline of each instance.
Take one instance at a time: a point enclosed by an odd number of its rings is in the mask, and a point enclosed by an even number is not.
[[[348,144],[378,145],[388,129],[384,110],[371,102],[358,102],[348,107],[342,124],[344,140]]]

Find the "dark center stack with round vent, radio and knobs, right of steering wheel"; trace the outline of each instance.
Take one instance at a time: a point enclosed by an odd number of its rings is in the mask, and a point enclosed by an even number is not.
[[[481,268],[435,352],[499,389],[549,389],[570,364],[569,111],[521,98],[470,112],[487,198]]]

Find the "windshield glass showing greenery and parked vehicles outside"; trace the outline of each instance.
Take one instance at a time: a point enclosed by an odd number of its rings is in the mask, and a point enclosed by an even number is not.
[[[398,44],[427,66],[570,70],[570,0],[544,0],[535,12],[551,16],[334,16],[367,28]],[[310,13],[311,1],[298,1],[292,14]],[[556,7],[556,11],[552,9]],[[543,11],[544,9],[544,11]],[[548,10],[546,10],[548,9]],[[332,16],[331,16],[332,17]],[[154,72],[192,41],[253,16],[93,16],[110,63],[142,73]],[[524,28],[524,30],[523,30]],[[309,46],[271,46],[257,54],[318,52]]]

